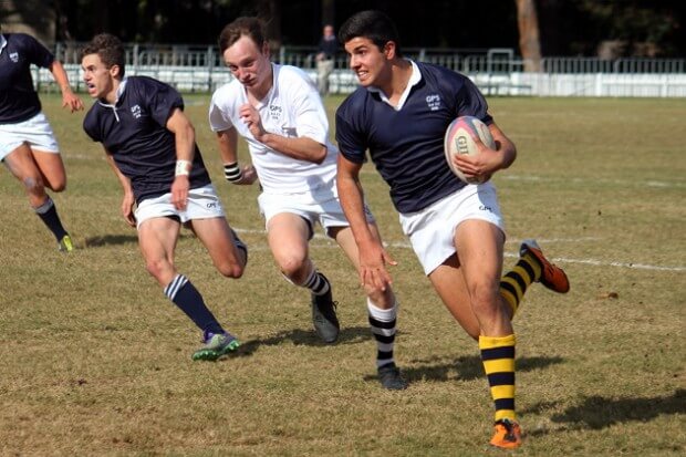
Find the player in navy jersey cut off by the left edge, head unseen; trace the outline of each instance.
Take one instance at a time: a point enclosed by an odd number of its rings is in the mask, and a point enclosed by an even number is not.
[[[58,248],[69,252],[74,249],[72,238],[45,191],[45,188],[63,191],[66,172],[33,87],[31,64],[50,70],[62,92],[62,107],[72,113],[83,110],[83,102],[72,92],[62,63],[44,45],[25,33],[1,33],[0,160],[23,186],[29,205],[54,235]]]

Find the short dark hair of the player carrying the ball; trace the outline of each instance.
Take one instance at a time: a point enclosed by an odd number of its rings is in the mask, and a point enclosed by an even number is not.
[[[351,15],[339,29],[339,41],[347,43],[354,38],[372,40],[380,50],[383,50],[388,41],[395,43],[395,53],[403,56],[401,39],[393,20],[386,13],[367,10]]]

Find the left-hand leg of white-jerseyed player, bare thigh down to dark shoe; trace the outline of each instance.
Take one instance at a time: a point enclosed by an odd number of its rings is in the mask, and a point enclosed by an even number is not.
[[[267,239],[279,269],[290,282],[310,290],[314,330],[325,343],[333,343],[340,324],[331,283],[309,257],[311,230],[311,224],[293,212],[279,212],[267,221]]]

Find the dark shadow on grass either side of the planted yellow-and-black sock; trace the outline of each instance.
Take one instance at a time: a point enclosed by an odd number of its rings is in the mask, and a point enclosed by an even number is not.
[[[563,359],[552,357],[519,357],[517,359],[517,371],[528,372],[537,368],[562,363]],[[435,363],[438,362],[438,363]],[[471,381],[477,377],[486,377],[484,364],[478,355],[467,355],[458,357],[453,362],[426,361],[424,366],[402,368],[405,378],[413,381]]]

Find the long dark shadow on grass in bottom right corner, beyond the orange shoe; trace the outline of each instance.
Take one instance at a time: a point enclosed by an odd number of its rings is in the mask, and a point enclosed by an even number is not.
[[[536,405],[533,409],[538,409]],[[573,428],[601,429],[620,423],[645,422],[663,414],[686,414],[686,390],[677,388],[672,395],[648,398],[592,396],[564,413],[553,414],[551,419]]]

